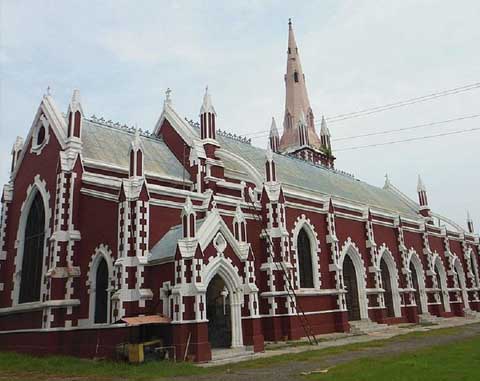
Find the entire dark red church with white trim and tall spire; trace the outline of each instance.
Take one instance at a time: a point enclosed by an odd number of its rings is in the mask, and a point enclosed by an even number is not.
[[[266,149],[221,131],[208,89],[198,121],[167,91],[150,131],[88,117],[78,90],[66,113],[43,96],[1,198],[0,350],[114,358],[159,338],[205,362],[476,316],[473,222],[436,213],[420,177],[412,200],[335,168],[291,23],[284,80]]]

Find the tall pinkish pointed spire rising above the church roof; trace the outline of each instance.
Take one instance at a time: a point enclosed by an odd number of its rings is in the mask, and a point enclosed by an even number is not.
[[[291,151],[301,147],[301,140],[313,148],[321,148],[320,138],[315,131],[315,118],[308,99],[305,75],[293,33],[292,22],[288,22],[287,74],[285,74],[285,117],[283,136],[280,139],[280,151]],[[305,118],[306,139],[299,133],[302,114]]]

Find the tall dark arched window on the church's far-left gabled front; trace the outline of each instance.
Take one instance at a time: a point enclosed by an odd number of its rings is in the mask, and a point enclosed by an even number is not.
[[[45,209],[40,192],[37,192],[30,206],[23,240],[22,272],[18,302],[36,302],[40,300],[45,244]]]

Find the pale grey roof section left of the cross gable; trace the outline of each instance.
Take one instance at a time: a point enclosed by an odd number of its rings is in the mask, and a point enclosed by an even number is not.
[[[83,158],[128,171],[134,132],[83,119]],[[182,164],[160,138],[140,136],[146,174],[182,180]]]

